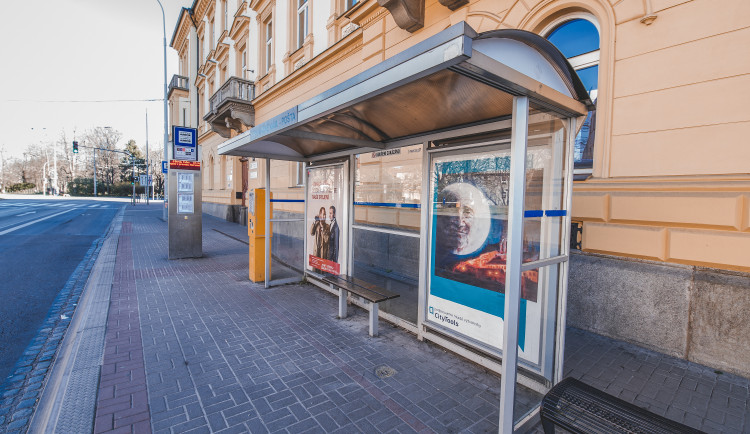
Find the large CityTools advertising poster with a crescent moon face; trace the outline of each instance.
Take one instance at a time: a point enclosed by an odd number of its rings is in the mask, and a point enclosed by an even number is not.
[[[502,350],[510,184],[509,151],[437,157],[427,319]],[[538,245],[525,243],[524,262]],[[537,243],[538,244],[538,243]],[[538,271],[522,274],[519,357],[539,363]]]

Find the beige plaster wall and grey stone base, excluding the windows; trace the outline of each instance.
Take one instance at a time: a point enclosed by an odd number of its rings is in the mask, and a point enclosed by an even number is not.
[[[425,0],[424,26],[410,33],[376,0],[348,11],[334,0],[327,40],[307,38],[294,51],[290,24],[277,26],[283,31],[274,43],[281,45],[266,71],[262,24],[293,18],[291,4],[247,5],[255,26],[246,36],[256,56],[250,63],[261,71],[254,78],[256,125],[461,21],[477,32],[540,33],[561,17],[592,15],[600,34],[598,119],[593,169],[574,185],[571,211],[582,224],[582,253],[571,265],[569,320],[750,375],[750,329],[741,321],[750,309],[750,2],[471,0],[451,11]],[[210,8],[196,5],[197,31],[205,35],[202,14]],[[216,69],[206,71],[219,83]],[[207,79],[197,82],[204,95]],[[220,140],[202,133],[204,164],[214,155],[216,182]],[[421,154],[406,155],[360,156],[362,201],[391,202],[387,189],[371,187],[388,185],[394,171],[421,175]],[[297,163],[272,162],[275,198],[302,198],[298,170]],[[249,187],[263,187],[264,180],[265,162],[250,162]],[[204,200],[236,203],[228,193],[211,190]],[[303,211],[289,203],[274,210]],[[355,210],[361,224],[419,225],[414,210]]]

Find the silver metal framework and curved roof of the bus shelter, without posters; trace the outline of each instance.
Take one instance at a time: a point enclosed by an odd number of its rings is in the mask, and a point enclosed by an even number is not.
[[[431,104],[434,103],[434,104]],[[423,105],[424,104],[424,105]],[[566,126],[567,151],[557,156],[564,172],[561,197],[560,252],[554,257],[522,263],[525,171],[529,113],[532,107],[555,113]],[[462,22],[422,41],[404,52],[255,126],[219,147],[222,155],[266,159],[266,188],[270,191],[270,159],[301,161],[312,166],[347,161],[344,187],[346,211],[344,231],[348,245],[345,258],[352,263],[354,226],[354,154],[423,144],[422,202],[431,194],[430,144],[449,138],[491,131],[510,131],[510,199],[507,238],[507,280],[504,298],[500,431],[519,426],[513,418],[518,376],[519,306],[521,273],[531,267],[560,264],[554,307],[554,370],[539,381],[533,375],[519,382],[542,390],[562,376],[564,348],[567,261],[572,192],[572,143],[576,121],[592,108],[588,93],[562,54],[538,35],[520,30],[498,30],[477,34]],[[305,173],[307,173],[305,171]],[[308,186],[305,186],[307,197]],[[271,195],[266,194],[266,228]],[[462,355],[472,347],[460,337],[445,339],[425,325],[425,282],[428,270],[429,210],[422,206],[420,229],[419,338],[433,340]],[[307,210],[304,220],[307,222]],[[287,219],[287,221],[289,221]],[[265,238],[266,286],[286,283],[270,281],[270,229]],[[307,237],[304,241],[307,252]],[[306,269],[303,266],[303,269]],[[314,277],[314,273],[305,272]],[[555,307],[556,306],[556,307]],[[456,344],[458,341],[460,344]],[[474,346],[475,347],[475,346]],[[484,360],[483,358],[481,358]],[[476,360],[476,358],[475,358]],[[497,363],[489,362],[491,369]],[[519,424],[529,420],[524,415]]]

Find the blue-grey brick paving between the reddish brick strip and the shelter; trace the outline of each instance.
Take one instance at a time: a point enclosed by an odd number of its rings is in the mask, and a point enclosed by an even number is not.
[[[221,233],[204,229],[204,258],[167,261],[149,229],[164,230],[134,222],[132,242],[154,432],[497,430],[497,376],[393,327],[369,338],[366,312],[336,320],[313,287],[251,284],[247,246]]]

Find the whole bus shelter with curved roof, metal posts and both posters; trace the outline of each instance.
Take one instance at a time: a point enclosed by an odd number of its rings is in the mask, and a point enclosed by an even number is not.
[[[305,164],[302,270],[316,283],[352,267],[354,155],[421,146],[417,334],[499,368],[500,430],[511,432],[533,415],[514,417],[516,382],[544,392],[562,379],[573,143],[590,108],[548,41],[462,22],[219,152],[265,158],[266,186],[271,159]]]

